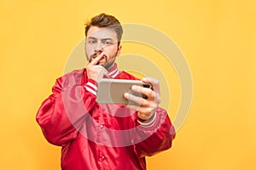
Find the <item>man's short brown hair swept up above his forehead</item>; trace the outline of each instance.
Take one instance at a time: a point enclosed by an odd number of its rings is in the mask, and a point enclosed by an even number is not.
[[[100,28],[108,26],[116,32],[118,41],[120,43],[123,34],[123,28],[120,25],[119,20],[117,20],[114,16],[102,13],[93,17],[90,21],[85,23],[85,37],[87,36],[87,32],[91,26],[98,26]]]

